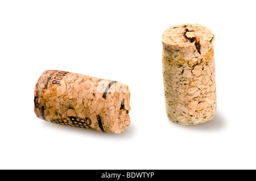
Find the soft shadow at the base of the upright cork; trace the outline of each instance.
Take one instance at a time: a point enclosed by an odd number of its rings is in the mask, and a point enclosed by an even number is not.
[[[176,127],[189,129],[192,131],[216,132],[216,131],[221,131],[221,129],[224,129],[226,127],[225,117],[222,115],[220,111],[216,112],[216,115],[213,117],[212,120],[203,124],[184,126],[184,125],[172,123],[172,121],[170,121],[168,118],[167,120],[170,122],[170,124],[175,125]]]

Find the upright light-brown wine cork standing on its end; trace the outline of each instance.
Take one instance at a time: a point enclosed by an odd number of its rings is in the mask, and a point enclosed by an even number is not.
[[[180,24],[162,35],[163,81],[168,118],[201,124],[216,112],[214,34],[200,24]]]

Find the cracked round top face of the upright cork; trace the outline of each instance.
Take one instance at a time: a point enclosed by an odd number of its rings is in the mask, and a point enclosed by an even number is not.
[[[179,24],[168,28],[162,35],[162,43],[168,47],[193,47],[210,45],[214,33],[200,24]]]

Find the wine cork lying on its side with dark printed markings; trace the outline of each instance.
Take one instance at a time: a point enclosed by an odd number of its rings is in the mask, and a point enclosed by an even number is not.
[[[130,124],[129,87],[117,81],[47,70],[34,94],[36,116],[52,123],[108,133]]]

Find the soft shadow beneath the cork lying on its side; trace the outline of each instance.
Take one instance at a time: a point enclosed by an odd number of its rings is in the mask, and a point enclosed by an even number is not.
[[[131,138],[133,137],[135,133],[135,127],[133,124],[130,124],[128,128],[126,128],[125,131],[123,131],[120,134],[113,134],[113,133],[105,133],[100,131],[95,131],[93,129],[84,129],[84,128],[76,128],[76,127],[67,127],[65,125],[50,123],[45,120],[39,119],[39,121],[42,121],[43,127],[46,127],[47,129],[56,129],[58,131],[64,131],[68,133],[74,133],[74,134],[81,134],[82,136],[88,136],[88,137],[112,137],[112,138]]]

